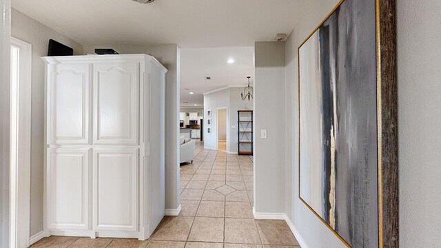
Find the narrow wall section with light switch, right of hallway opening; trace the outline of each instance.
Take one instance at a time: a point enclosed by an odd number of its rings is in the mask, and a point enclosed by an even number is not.
[[[254,51],[254,209],[284,214],[285,43],[256,42]]]

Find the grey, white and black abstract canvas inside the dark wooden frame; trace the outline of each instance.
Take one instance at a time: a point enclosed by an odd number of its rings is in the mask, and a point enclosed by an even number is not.
[[[378,247],[375,2],[346,0],[300,48],[300,197]]]

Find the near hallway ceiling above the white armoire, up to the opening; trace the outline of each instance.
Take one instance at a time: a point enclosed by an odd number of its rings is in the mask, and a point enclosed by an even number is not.
[[[249,46],[289,34],[305,0],[12,0],[12,7],[83,45]]]

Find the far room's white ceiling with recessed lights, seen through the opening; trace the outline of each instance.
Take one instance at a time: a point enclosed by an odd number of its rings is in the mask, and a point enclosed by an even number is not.
[[[228,59],[234,63],[227,63]],[[207,76],[212,79],[205,79]],[[254,47],[182,48],[181,106],[201,106],[203,93],[228,85],[247,85],[247,76],[254,76]]]

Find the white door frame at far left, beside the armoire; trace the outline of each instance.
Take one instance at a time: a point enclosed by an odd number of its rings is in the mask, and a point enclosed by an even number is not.
[[[30,245],[32,45],[14,37],[11,37],[10,42],[11,48],[12,46],[19,48],[17,116],[12,123],[13,113],[11,113],[10,122],[10,156],[11,158],[16,156],[15,160],[10,161],[10,246],[28,247]],[[11,89],[11,96],[12,94],[14,92]],[[16,144],[12,144],[12,135],[15,136]]]

